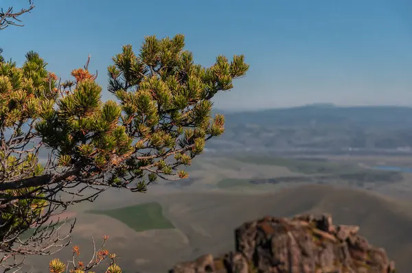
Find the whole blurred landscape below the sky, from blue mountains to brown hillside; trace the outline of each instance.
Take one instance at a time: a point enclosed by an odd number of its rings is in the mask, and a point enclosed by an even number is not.
[[[227,132],[185,167],[190,178],[159,180],[148,193],[106,191],[73,206],[73,244],[87,253],[91,237],[107,234],[126,272],[165,272],[176,261],[232,249],[233,228],[244,221],[331,213],[335,222],[361,226],[361,235],[407,272],[412,157],[398,147],[410,145],[412,119],[398,119],[412,110],[306,106],[249,114],[225,113]],[[219,146],[228,143],[233,149]],[[36,257],[36,264],[47,259]]]

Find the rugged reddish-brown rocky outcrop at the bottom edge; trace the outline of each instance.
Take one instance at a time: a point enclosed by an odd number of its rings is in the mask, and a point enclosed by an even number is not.
[[[264,217],[236,229],[236,251],[178,263],[170,273],[391,273],[385,250],[357,235],[358,226],[335,226],[330,215]]]

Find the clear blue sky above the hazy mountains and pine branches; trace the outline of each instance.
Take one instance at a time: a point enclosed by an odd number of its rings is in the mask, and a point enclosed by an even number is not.
[[[5,0],[21,8],[25,0]],[[412,106],[412,1],[35,0],[25,27],[0,31],[3,55],[21,64],[37,51],[67,78],[91,54],[106,67],[124,44],[183,33],[196,62],[244,54],[246,78],[216,107],[242,110],[312,103]],[[109,95],[105,92],[104,98]]]

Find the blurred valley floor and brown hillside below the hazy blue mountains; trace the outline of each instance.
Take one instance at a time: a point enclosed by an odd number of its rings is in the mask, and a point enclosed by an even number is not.
[[[385,248],[400,272],[407,272],[411,267],[412,204],[407,201],[412,196],[411,174],[400,174],[400,180],[396,180],[398,176],[388,178],[385,174],[382,177],[386,182],[366,184],[341,180],[326,180],[323,185],[316,182],[249,183],[256,179],[288,177],[295,181],[299,177],[312,177],[319,175],[312,172],[321,166],[323,175],[329,175],[328,170],[342,175],[358,174],[362,169],[368,171],[359,164],[408,165],[402,158],[383,161],[383,158],[336,157],[328,158],[327,162],[261,158],[263,163],[238,158],[199,159],[190,170],[194,182],[185,187],[159,184],[144,194],[107,191],[93,203],[74,206],[71,211],[77,213],[77,224],[73,244],[80,245],[85,255],[91,254],[91,237],[98,241],[103,235],[109,235],[107,248],[117,254],[126,272],[167,272],[177,261],[232,250],[233,229],[242,222],[264,215],[289,217],[298,213],[331,213],[337,224],[361,226],[360,234],[371,244]],[[226,186],[222,187],[225,179],[232,182],[225,182]],[[236,181],[240,185],[236,185]],[[139,204],[145,204],[148,211],[142,211]],[[101,213],[91,212],[93,209]],[[117,214],[122,214],[119,213],[122,209],[128,210],[130,219],[127,215],[119,218],[104,213],[113,209],[117,209]],[[154,229],[148,225],[150,221],[157,223],[152,226]],[[149,226],[148,230],[139,229],[142,222],[146,228]],[[69,248],[57,256],[67,260]],[[50,259],[30,257],[28,262],[35,265],[34,272],[44,272]]]

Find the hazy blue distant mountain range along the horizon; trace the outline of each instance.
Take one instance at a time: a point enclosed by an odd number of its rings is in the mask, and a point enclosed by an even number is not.
[[[411,107],[313,104],[227,112],[225,117],[225,134],[207,147],[330,152],[412,147]]]

